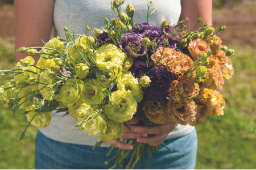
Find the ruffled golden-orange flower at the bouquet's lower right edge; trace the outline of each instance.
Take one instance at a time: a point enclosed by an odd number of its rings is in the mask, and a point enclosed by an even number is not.
[[[225,100],[217,91],[201,87],[199,95],[195,97],[195,100],[204,104],[206,106],[207,113],[213,118],[216,117],[216,115],[220,116],[224,114],[223,109],[225,108]]]

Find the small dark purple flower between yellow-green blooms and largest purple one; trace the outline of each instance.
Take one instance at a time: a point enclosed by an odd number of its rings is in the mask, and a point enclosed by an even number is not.
[[[146,66],[145,62],[142,61],[135,61],[130,68],[131,74],[135,78],[141,78],[142,75],[150,71],[150,68]]]

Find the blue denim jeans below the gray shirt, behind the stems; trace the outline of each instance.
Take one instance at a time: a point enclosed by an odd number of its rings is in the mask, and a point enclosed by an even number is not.
[[[191,133],[182,137],[166,139],[164,143],[172,150],[168,151],[160,146],[158,152],[152,152],[150,169],[194,169],[196,165],[197,135],[194,129]],[[36,169],[108,169],[114,165],[114,161],[105,165],[104,162],[118,153],[118,149],[106,157],[109,149],[107,147],[76,145],[54,141],[38,131],[36,135],[35,168]],[[122,167],[131,158],[130,153],[123,160]],[[136,169],[145,169],[147,165],[147,153],[145,159],[137,164]]]

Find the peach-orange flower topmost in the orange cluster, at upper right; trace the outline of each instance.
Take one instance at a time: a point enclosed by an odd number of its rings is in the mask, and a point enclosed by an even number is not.
[[[188,50],[193,57],[193,61],[196,61],[199,58],[200,53],[207,53],[210,51],[210,46],[204,40],[196,39],[189,42]]]

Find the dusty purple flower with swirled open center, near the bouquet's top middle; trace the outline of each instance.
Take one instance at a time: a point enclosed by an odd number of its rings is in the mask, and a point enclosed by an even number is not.
[[[129,56],[137,58],[146,54],[142,40],[143,38],[138,35],[125,36],[121,38],[119,46]]]

